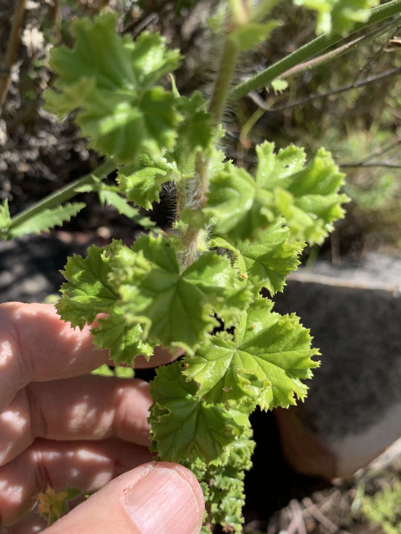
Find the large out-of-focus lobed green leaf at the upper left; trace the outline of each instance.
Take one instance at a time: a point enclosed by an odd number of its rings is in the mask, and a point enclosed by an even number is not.
[[[76,19],[75,46],[51,50],[58,74],[46,94],[47,109],[63,117],[78,109],[75,122],[90,146],[122,163],[136,163],[173,148],[180,115],[175,96],[154,84],[179,63],[158,34],[143,32],[133,43],[115,31],[117,14]]]

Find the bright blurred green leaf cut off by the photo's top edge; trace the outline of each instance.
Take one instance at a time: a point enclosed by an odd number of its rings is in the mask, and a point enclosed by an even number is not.
[[[316,33],[348,34],[358,22],[367,22],[380,0],[294,0],[318,12]]]

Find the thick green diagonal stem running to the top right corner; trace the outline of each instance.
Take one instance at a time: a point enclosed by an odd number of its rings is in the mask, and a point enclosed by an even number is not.
[[[369,20],[366,23],[357,24],[352,34],[370,26],[375,22],[381,22],[382,20],[392,17],[392,15],[399,14],[400,12],[401,0],[392,0],[391,2],[387,2],[379,7],[374,7],[374,9],[371,10],[371,16],[369,17]],[[317,56],[317,54],[320,54],[323,50],[326,50],[329,46],[336,44],[341,40],[342,37],[338,34],[323,34],[319,37],[316,37],[310,43],[301,46],[301,48],[295,52],[292,52],[280,61],[277,61],[272,66],[263,70],[263,72],[253,76],[252,78],[249,78],[249,80],[246,80],[239,85],[236,85],[236,87],[234,87],[228,93],[228,100],[236,100],[244,95],[247,95],[250,91],[269,85],[275,78],[281,76],[290,68],[307,61],[313,56]]]

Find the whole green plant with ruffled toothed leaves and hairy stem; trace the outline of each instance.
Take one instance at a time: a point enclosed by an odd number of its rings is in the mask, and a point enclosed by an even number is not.
[[[109,349],[116,364],[151,358],[159,344],[186,352],[160,367],[151,383],[152,450],[187,465],[201,481],[204,532],[218,524],[227,532],[242,529],[244,472],[255,446],[249,415],[257,406],[288,407],[306,396],[302,380],[318,367],[319,352],[295,314],[280,316],[265,295],[283,290],[305,242],[320,244],[348,200],[338,192],[344,175],[323,148],[306,163],[302,148],[275,153],[264,142],[252,172],[226,161],[219,150],[222,113],[227,101],[340,41],[356,20],[363,29],[401,9],[401,0],[372,11],[371,2],[360,2],[356,19],[341,0],[314,2],[333,15],[331,33],[233,88],[240,54],[277,26],[265,22],[276,3],[223,4],[224,16],[213,21],[222,52],[209,102],[200,92],[179,95],[173,77],[166,89],[180,54],[159,35],[119,37],[110,13],[76,20],[74,48],[51,53],[58,79],[47,107],[60,118],[75,112],[89,146],[110,159],[16,217],[6,203],[0,211],[3,238],[10,239],[60,224],[83,207],[61,202],[94,191],[150,229],[132,247],[113,241],[92,246],[86,258],[69,258],[57,310],[80,328],[104,313],[92,329],[94,343]],[[118,185],[104,186],[115,168]],[[137,210],[158,202],[165,183],[178,199],[168,233],[151,228]]]

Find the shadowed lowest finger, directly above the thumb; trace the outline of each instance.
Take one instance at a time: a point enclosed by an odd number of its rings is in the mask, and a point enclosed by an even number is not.
[[[56,491],[96,491],[114,477],[151,460],[148,449],[119,439],[56,442],[36,439],[16,459],[0,467],[0,527],[18,522],[33,497],[48,486]]]

